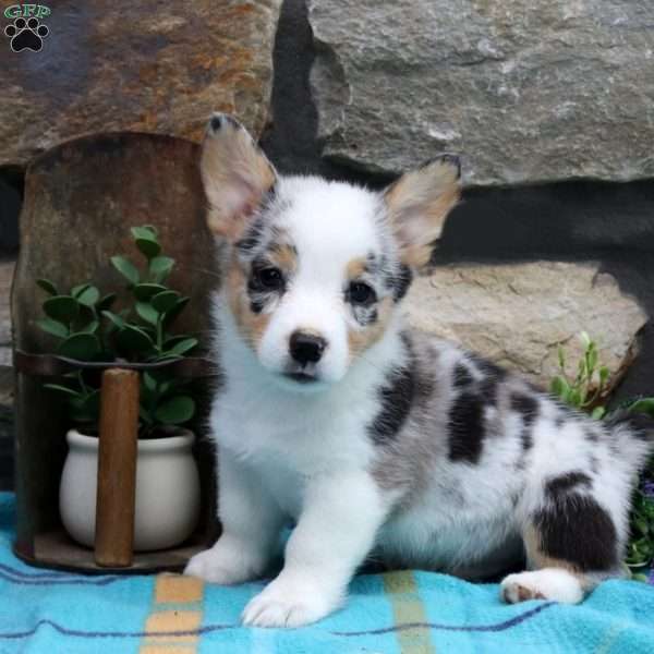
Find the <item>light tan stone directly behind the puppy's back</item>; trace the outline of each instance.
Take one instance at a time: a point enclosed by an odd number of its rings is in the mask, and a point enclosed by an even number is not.
[[[562,343],[569,361],[585,330],[619,377],[635,353],[644,311],[594,264],[530,263],[437,268],[415,280],[410,323],[548,386]],[[576,371],[570,370],[570,373]]]

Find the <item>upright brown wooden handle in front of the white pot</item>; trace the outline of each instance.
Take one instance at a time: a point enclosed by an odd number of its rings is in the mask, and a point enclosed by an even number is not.
[[[107,370],[100,395],[95,532],[98,566],[132,565],[137,436],[138,373]]]

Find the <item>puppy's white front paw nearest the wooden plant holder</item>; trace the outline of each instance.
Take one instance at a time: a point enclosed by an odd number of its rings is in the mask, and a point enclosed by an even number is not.
[[[265,562],[265,558],[257,553],[221,537],[214,547],[192,557],[184,574],[209,583],[232,585],[261,577]]]

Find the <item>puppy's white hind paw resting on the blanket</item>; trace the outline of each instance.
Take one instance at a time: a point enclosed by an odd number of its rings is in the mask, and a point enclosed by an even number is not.
[[[583,600],[584,592],[579,579],[568,570],[544,568],[509,574],[500,584],[500,595],[508,604],[526,600],[578,604]]]

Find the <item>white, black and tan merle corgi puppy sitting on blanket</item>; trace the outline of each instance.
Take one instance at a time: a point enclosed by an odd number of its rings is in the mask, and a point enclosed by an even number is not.
[[[382,193],[282,177],[215,114],[201,170],[223,262],[210,417],[222,535],[186,574],[256,579],[294,525],[283,569],[243,611],[257,627],[334,611],[368,559],[473,580],[525,559],[500,584],[509,603],[577,603],[621,574],[647,425],[593,421],[403,322],[460,195],[455,156]]]

